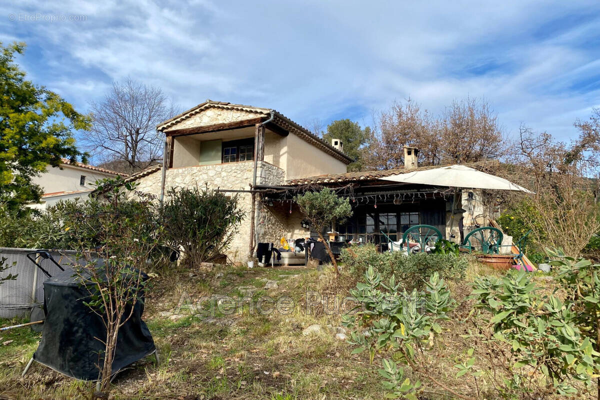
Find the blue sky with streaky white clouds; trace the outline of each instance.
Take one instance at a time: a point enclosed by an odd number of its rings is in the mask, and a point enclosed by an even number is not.
[[[0,40],[25,41],[30,79],[82,111],[127,76],[183,109],[211,98],[301,124],[372,124],[394,100],[438,113],[470,96],[509,136],[524,122],[568,140],[600,107],[598,0],[22,0],[0,5]]]

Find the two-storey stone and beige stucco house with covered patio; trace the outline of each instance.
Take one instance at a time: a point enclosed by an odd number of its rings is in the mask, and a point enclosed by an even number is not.
[[[459,234],[458,219],[452,215],[461,203],[453,207],[448,188],[379,180],[417,169],[416,149],[405,149],[404,169],[348,173],[353,160],[339,140],[323,142],[272,109],[211,100],[163,122],[157,130],[167,142],[164,175],[161,166],[152,166],[127,181],[139,182],[137,190],[158,197],[169,187],[194,186],[237,194],[246,219],[230,243],[228,255],[233,260],[247,259],[257,242],[314,236],[303,227],[292,200],[314,185],[337,188],[351,198],[354,216],[332,227],[344,239],[377,242],[380,233],[386,233],[401,240],[401,232],[417,224],[437,226],[445,237]],[[485,196],[470,191],[461,197],[469,199],[464,202],[468,209],[459,216],[466,217],[461,225],[486,224],[493,210],[484,207]]]

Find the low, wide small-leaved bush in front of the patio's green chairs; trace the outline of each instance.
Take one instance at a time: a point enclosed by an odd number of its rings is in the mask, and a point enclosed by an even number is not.
[[[345,248],[341,252],[340,259],[356,279],[364,275],[368,267],[373,267],[384,279],[394,275],[409,290],[422,287],[424,280],[435,272],[444,279],[462,280],[469,264],[466,257],[457,257],[452,253],[411,255],[404,255],[400,251],[380,253],[374,245]]]

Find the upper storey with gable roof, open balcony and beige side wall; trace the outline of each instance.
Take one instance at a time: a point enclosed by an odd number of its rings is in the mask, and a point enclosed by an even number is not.
[[[352,158],[271,109],[206,101],[163,122],[170,169],[264,161],[296,179],[346,172]]]

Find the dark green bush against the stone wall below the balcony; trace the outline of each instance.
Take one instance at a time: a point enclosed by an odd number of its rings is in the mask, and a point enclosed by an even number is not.
[[[223,253],[244,216],[237,196],[197,187],[170,188],[163,208],[166,239],[183,249],[189,267]]]

